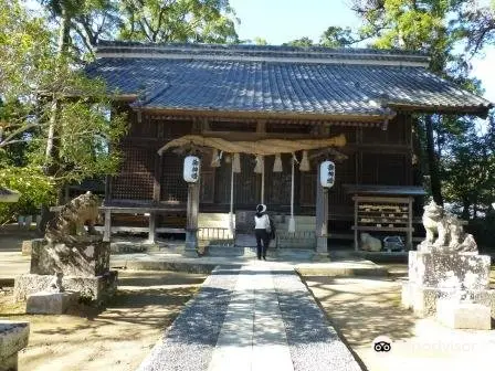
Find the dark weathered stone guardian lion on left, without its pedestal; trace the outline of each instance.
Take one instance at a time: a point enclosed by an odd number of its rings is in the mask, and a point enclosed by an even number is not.
[[[45,239],[49,242],[77,242],[98,234],[94,227],[99,220],[98,206],[98,198],[89,191],[76,197],[49,222]],[[87,232],[84,225],[87,225]]]

